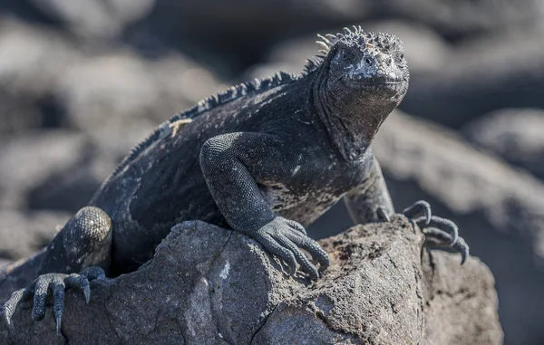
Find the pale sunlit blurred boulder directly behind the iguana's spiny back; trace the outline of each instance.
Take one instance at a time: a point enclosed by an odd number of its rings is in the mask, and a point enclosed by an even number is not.
[[[89,53],[68,66],[54,90],[70,126],[98,145],[110,136],[131,149],[160,122],[221,87],[211,72],[179,53],[146,60],[119,48]]]

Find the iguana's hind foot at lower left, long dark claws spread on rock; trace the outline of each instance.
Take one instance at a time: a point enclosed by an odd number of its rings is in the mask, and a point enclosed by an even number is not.
[[[45,273],[38,276],[28,287],[17,290],[4,304],[4,318],[7,326],[13,331],[14,323],[12,317],[21,302],[30,300],[34,296],[34,307],[32,319],[41,321],[45,316],[45,300],[48,292],[53,293],[53,316],[56,321],[57,334],[61,331],[64,311],[64,290],[66,288],[79,289],[83,291],[85,302],[91,299],[91,287],[89,282],[94,279],[102,279],[105,273],[100,267],[89,267],[82,273]]]

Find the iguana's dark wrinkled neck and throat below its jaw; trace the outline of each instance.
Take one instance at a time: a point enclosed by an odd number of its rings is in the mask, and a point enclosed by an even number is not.
[[[320,75],[313,83],[312,103],[336,151],[346,161],[362,158],[394,107],[356,97],[355,92],[328,91]]]

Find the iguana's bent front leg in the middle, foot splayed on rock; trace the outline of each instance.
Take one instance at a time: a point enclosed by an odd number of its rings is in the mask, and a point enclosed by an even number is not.
[[[325,251],[306,235],[304,227],[277,216],[257,183],[288,185],[295,160],[290,146],[274,135],[238,132],[206,141],[200,167],[221,214],[234,230],[250,235],[271,254],[296,270],[299,264],[312,279],[319,273],[301,251],[305,249],[322,267],[329,264]],[[293,165],[293,167],[291,167]]]

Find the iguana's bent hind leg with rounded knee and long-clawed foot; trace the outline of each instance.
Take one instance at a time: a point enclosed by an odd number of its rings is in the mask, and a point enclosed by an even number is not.
[[[12,293],[4,304],[4,319],[13,330],[12,316],[20,302],[34,298],[33,320],[45,315],[45,300],[53,293],[53,315],[60,331],[65,288],[83,291],[85,301],[91,296],[90,281],[105,276],[112,246],[112,221],[102,209],[87,206],[64,225],[44,251],[39,274],[29,286]],[[83,272],[82,272],[83,270]],[[79,272],[79,273],[77,273]],[[9,279],[9,274],[5,279]]]

